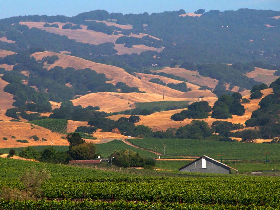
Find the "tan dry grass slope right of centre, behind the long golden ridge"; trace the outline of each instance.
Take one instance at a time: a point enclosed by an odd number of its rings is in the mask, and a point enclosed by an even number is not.
[[[212,79],[210,77],[203,77],[199,75],[196,71],[190,71],[185,68],[170,68],[166,67],[161,70],[156,70],[152,72],[164,72],[167,74],[174,74],[175,76],[183,77],[191,83],[198,84],[200,86],[208,86],[211,88],[215,88],[217,83],[219,82],[216,79]]]

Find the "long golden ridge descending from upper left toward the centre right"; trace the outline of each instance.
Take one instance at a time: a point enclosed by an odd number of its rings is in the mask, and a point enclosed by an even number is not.
[[[108,83],[112,83],[114,85],[117,82],[125,82],[130,87],[138,87],[140,91],[145,91],[152,94],[162,94],[162,88],[164,88],[165,95],[170,97],[182,94],[181,91],[177,91],[169,87],[161,86],[152,82],[142,81],[137,77],[128,74],[126,71],[124,71],[124,69],[119,67],[95,63],[75,56],[59,53],[37,52],[32,54],[32,56],[37,60],[41,60],[43,57],[53,55],[57,55],[59,57],[59,60],[55,61],[52,65],[48,65],[48,69],[54,68],[55,66],[61,66],[63,68],[73,67],[75,69],[90,68],[92,70],[95,70],[97,73],[104,73],[109,79],[113,79],[112,81],[108,81]]]

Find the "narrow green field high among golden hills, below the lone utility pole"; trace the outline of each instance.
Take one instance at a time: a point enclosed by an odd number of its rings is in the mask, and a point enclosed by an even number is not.
[[[160,111],[166,110],[168,107],[178,106],[178,107],[187,107],[189,101],[154,101],[154,102],[142,102],[135,103],[136,108],[152,110],[155,107],[158,107]]]

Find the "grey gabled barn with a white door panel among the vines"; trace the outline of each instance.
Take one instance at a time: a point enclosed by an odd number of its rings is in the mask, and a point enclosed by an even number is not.
[[[200,172],[200,173],[216,173],[216,174],[231,174],[231,169],[238,170],[227,166],[219,161],[216,161],[208,156],[203,155],[195,161],[183,166],[179,169],[182,172]]]

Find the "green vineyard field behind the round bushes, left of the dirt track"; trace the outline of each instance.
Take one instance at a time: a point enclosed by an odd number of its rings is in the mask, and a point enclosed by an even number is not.
[[[156,154],[153,154],[152,152],[131,147],[119,140],[113,140],[111,142],[103,143],[103,144],[96,144],[95,146],[98,148],[101,157],[110,156],[110,154],[112,154],[116,149],[131,149],[133,152],[138,152],[139,155],[142,157],[150,157],[150,158],[156,157]]]

